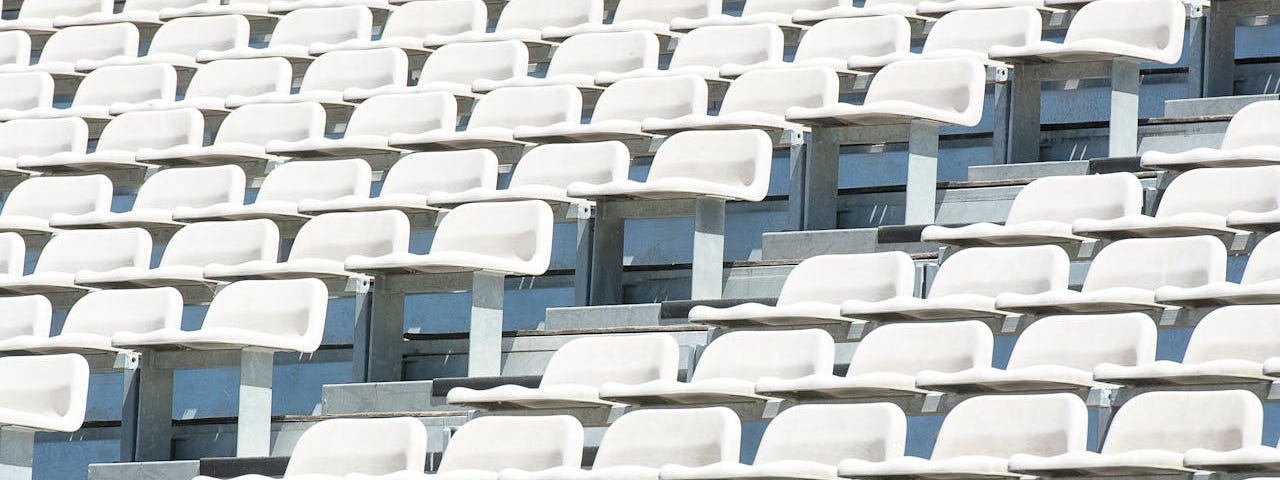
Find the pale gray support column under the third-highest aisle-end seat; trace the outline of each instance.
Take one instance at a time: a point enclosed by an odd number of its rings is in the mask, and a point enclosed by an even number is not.
[[[694,201],[694,268],[690,298],[719,298],[724,291],[724,198]]]

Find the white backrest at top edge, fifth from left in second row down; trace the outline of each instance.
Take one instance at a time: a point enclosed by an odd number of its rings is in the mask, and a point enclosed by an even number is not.
[[[425,0],[402,4],[387,18],[383,38],[484,32],[489,9],[483,0]]]

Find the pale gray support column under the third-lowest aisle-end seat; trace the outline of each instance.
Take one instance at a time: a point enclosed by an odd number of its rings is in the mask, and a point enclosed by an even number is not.
[[[476,271],[471,278],[471,337],[467,376],[502,375],[502,297],[504,276]]]

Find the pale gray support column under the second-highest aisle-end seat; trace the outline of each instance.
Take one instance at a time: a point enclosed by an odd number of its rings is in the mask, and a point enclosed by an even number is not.
[[[933,223],[938,198],[938,124],[911,122],[906,145],[906,225]]]

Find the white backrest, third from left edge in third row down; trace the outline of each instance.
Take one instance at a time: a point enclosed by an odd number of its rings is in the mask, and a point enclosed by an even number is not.
[[[200,67],[187,86],[187,99],[225,99],[288,93],[293,67],[282,58],[216,60]]]

